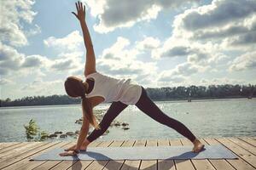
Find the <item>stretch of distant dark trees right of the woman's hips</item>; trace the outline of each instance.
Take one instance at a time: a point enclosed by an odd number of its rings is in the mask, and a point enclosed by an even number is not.
[[[147,88],[151,99],[224,99],[256,96],[256,85],[210,85],[174,88]]]

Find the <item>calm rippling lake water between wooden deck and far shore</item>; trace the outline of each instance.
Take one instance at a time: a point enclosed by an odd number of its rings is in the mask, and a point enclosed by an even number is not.
[[[168,116],[183,122],[196,137],[256,136],[256,99],[197,100],[192,102],[155,102]],[[108,109],[110,104],[98,105],[96,109]],[[104,112],[105,113],[105,112]],[[24,124],[30,119],[48,133],[76,131],[74,123],[82,116],[80,105],[11,107],[0,109],[0,142],[26,141]],[[108,139],[166,139],[183,138],[170,127],[155,122],[139,111],[135,105],[128,106],[116,117],[128,122],[129,130],[109,127]],[[93,130],[92,127],[90,131]],[[76,140],[67,139],[51,140]]]

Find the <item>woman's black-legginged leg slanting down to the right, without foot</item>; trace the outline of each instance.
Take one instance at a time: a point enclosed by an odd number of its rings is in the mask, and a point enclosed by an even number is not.
[[[142,87],[143,88],[143,87]],[[142,95],[136,104],[139,110],[153,118],[155,121],[160,122],[168,127],[172,127],[178,133],[189,139],[192,143],[195,141],[195,135],[190,132],[188,127],[185,127],[182,122],[178,122],[164,112],[160,111],[159,107],[148,97],[146,90],[143,88]]]

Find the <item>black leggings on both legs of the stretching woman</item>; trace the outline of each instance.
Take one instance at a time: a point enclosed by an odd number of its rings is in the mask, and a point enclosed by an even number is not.
[[[167,116],[164,112],[160,111],[159,107],[155,105],[154,102],[148,97],[148,94],[144,88],[140,99],[135,105],[140,111],[143,111],[155,121],[160,122],[167,127],[172,127],[177,131],[177,133],[182,134],[191,142],[195,140],[195,135],[191,133],[189,128],[185,127],[182,122],[178,122],[170,116]],[[107,113],[103,116],[102,122],[99,123],[102,129],[94,129],[94,131],[90,133],[87,139],[92,142],[93,140],[100,137],[108,129],[111,122],[113,122],[113,119],[118,116],[119,113],[123,111],[127,106],[128,105],[125,105],[120,101],[113,102],[112,105],[110,105]]]

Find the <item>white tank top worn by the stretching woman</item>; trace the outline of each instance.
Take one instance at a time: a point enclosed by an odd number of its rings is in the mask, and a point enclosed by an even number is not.
[[[142,87],[129,79],[117,79],[102,75],[99,72],[87,75],[86,79],[94,79],[94,87],[87,98],[102,96],[105,100],[102,103],[121,101],[126,105],[135,105],[142,94]]]

